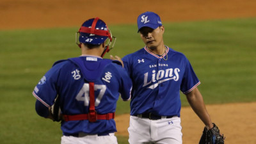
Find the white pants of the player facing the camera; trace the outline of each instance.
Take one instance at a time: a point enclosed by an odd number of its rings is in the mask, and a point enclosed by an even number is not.
[[[181,129],[178,116],[160,120],[130,116],[129,143],[182,144]]]

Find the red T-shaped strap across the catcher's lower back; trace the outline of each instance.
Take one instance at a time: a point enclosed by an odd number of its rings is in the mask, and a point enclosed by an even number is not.
[[[63,115],[63,119],[67,122],[70,120],[89,120],[89,122],[96,122],[96,120],[110,120],[115,118],[115,113],[107,113],[104,115],[98,115],[95,111],[95,95],[94,95],[94,83],[89,82],[89,96],[90,107],[88,114],[81,115]]]

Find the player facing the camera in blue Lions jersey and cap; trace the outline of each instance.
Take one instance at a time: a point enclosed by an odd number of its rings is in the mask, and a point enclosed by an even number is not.
[[[164,45],[159,15],[138,16],[142,49],[124,56],[124,67],[132,79],[129,143],[181,144],[180,91],[207,129],[213,127],[188,58]]]

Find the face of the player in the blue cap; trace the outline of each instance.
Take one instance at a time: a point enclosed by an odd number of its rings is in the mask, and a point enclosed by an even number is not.
[[[164,27],[159,26],[156,29],[143,27],[140,29],[140,36],[146,46],[150,49],[156,49],[163,44]]]

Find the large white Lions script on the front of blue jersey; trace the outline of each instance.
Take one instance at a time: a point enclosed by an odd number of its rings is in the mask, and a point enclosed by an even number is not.
[[[179,80],[179,68],[168,68],[166,70],[159,70],[156,73],[156,70],[152,70],[152,78],[148,81],[148,72],[144,74],[144,86],[148,86],[147,88],[154,89],[158,86],[158,84],[163,83],[164,81],[170,81],[173,79],[173,81]],[[155,83],[157,81],[157,83]],[[150,85],[151,84],[151,85]]]

